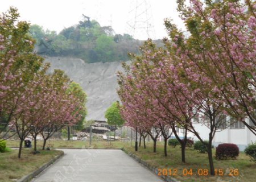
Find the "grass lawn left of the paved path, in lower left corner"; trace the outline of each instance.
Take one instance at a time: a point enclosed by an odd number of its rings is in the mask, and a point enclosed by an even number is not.
[[[16,181],[63,153],[63,151],[49,150],[33,155],[31,152],[30,149],[22,150],[20,159],[18,159],[18,150],[0,153],[0,181]]]

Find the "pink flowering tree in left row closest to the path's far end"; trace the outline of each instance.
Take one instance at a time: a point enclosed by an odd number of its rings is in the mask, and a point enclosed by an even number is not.
[[[51,97],[44,94],[47,100],[48,109],[47,120],[44,120],[44,125],[40,134],[44,139],[43,150],[46,147],[46,142],[52,135],[60,130],[65,125],[72,126],[81,122],[86,114],[85,102],[86,94],[82,91],[78,84],[72,89],[73,82],[64,75],[63,71],[55,70],[49,75],[48,90],[52,90]]]

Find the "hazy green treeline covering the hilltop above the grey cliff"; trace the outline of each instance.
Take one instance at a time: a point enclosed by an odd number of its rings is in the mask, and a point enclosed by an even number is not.
[[[40,55],[77,57],[86,63],[126,61],[128,52],[138,53],[141,40],[128,34],[113,35],[112,27],[101,27],[96,20],[83,16],[77,25],[64,28],[59,34],[32,25],[30,34],[36,39],[36,51]]]

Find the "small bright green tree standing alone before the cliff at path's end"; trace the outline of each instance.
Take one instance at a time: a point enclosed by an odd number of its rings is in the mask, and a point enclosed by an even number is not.
[[[119,102],[113,102],[110,107],[105,112],[105,118],[107,119],[107,122],[111,126],[122,126],[123,123],[125,123],[125,120],[121,117],[120,110],[119,110]],[[115,138],[115,132],[114,132],[114,138]]]

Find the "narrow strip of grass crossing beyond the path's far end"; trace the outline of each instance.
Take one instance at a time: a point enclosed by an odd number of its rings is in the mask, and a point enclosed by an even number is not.
[[[36,146],[38,148],[42,148],[43,141],[38,140],[36,142]],[[130,144],[128,142],[128,144]],[[126,142],[122,142],[120,140],[115,141],[106,141],[106,140],[92,140],[92,144],[90,146],[89,140],[82,141],[82,140],[48,140],[46,143],[46,147],[53,147],[53,148],[122,148],[126,145]],[[7,147],[19,147],[18,140],[7,140],[6,143]],[[23,143],[24,146],[24,143]],[[32,142],[32,146],[34,143]]]

